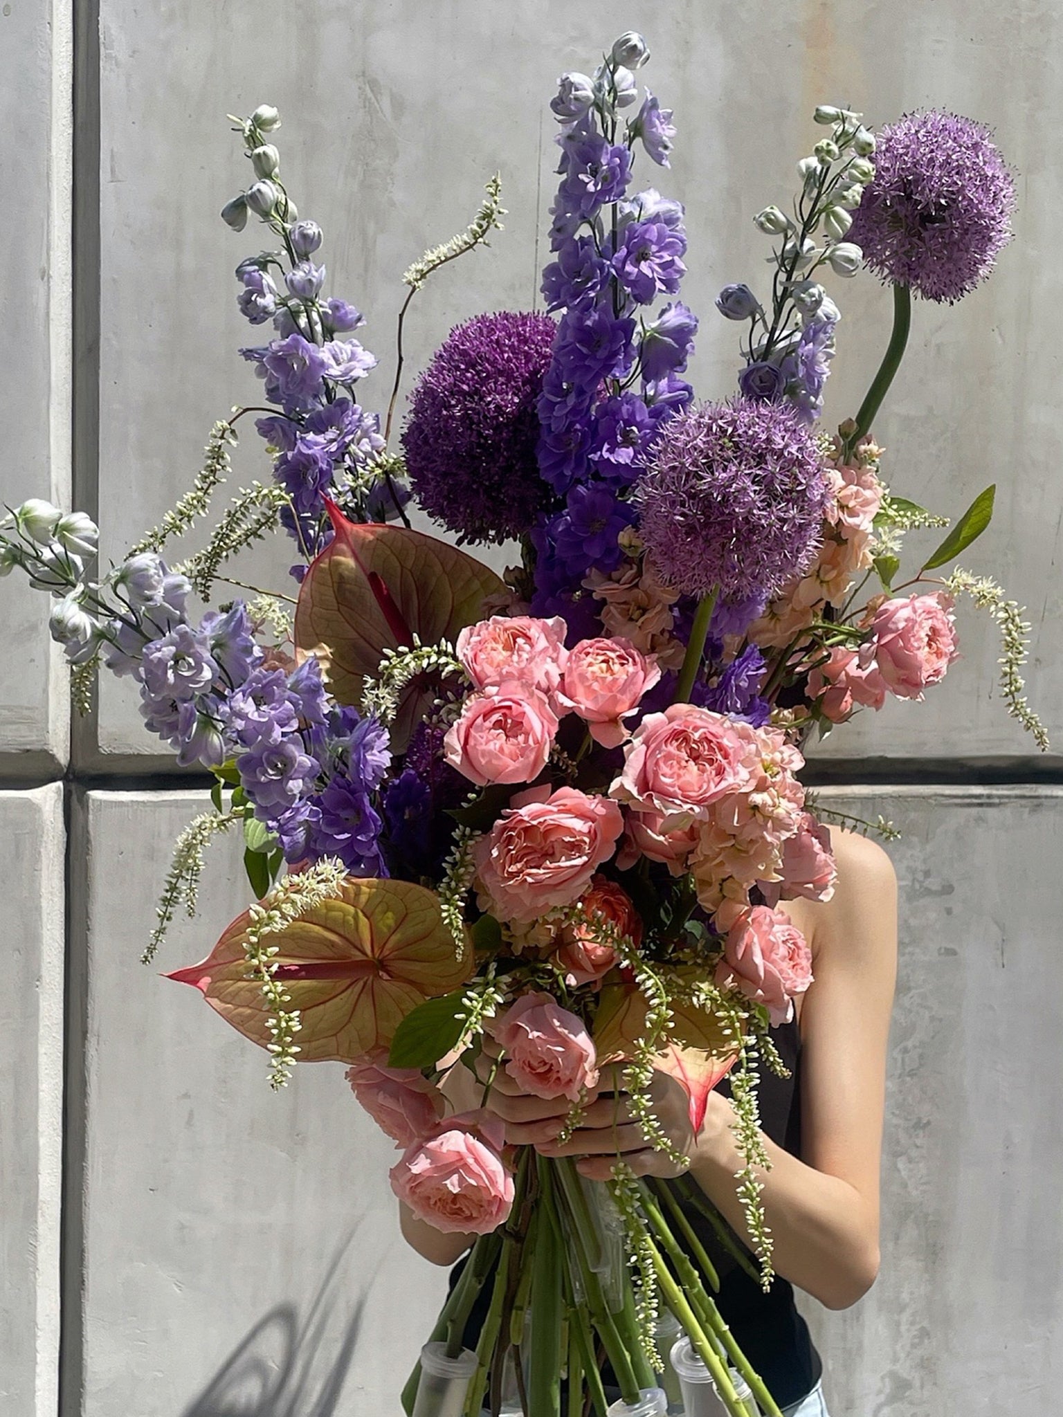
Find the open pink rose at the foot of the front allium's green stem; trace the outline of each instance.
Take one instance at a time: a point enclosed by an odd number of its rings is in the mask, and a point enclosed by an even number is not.
[[[609,795],[636,812],[662,813],[666,832],[706,820],[713,802],[750,781],[751,740],[740,727],[693,704],[646,714]]]

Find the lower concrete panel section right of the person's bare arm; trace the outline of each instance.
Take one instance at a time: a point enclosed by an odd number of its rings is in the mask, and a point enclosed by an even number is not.
[[[882,812],[904,833],[890,846],[901,956],[883,1264],[855,1309],[814,1316],[831,1411],[1054,1411],[1063,791],[831,791],[822,801]]]

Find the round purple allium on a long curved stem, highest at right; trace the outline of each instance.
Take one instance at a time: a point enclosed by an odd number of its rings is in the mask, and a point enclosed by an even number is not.
[[[1011,239],[1012,174],[988,129],[955,113],[907,113],[877,140],[848,239],[883,281],[952,303]]]

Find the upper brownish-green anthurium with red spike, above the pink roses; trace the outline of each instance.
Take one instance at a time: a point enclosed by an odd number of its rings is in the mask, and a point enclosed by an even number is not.
[[[480,618],[488,595],[505,585],[479,561],[437,537],[387,523],[347,521],[329,507],[334,537],[313,561],[295,612],[295,643],[319,650],[329,689],[357,707],[361,680],[380,667],[386,649],[454,640]],[[395,717],[401,748],[425,708],[425,690],[411,684]]]

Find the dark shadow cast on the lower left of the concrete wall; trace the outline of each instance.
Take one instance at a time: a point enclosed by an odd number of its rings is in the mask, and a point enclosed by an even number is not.
[[[340,1247],[299,1322],[293,1304],[278,1304],[230,1353],[181,1417],[337,1417],[343,1384],[354,1362],[366,1295],[342,1328]]]

